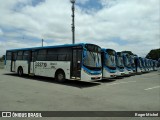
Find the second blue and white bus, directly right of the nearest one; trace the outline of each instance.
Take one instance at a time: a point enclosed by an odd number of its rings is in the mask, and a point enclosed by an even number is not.
[[[116,77],[116,51],[113,49],[102,49],[102,76],[103,78]]]

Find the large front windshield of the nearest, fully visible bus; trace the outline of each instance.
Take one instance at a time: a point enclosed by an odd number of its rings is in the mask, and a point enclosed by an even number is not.
[[[101,69],[101,49],[98,46],[87,45],[87,50],[84,50],[83,64],[84,66],[95,69]]]

